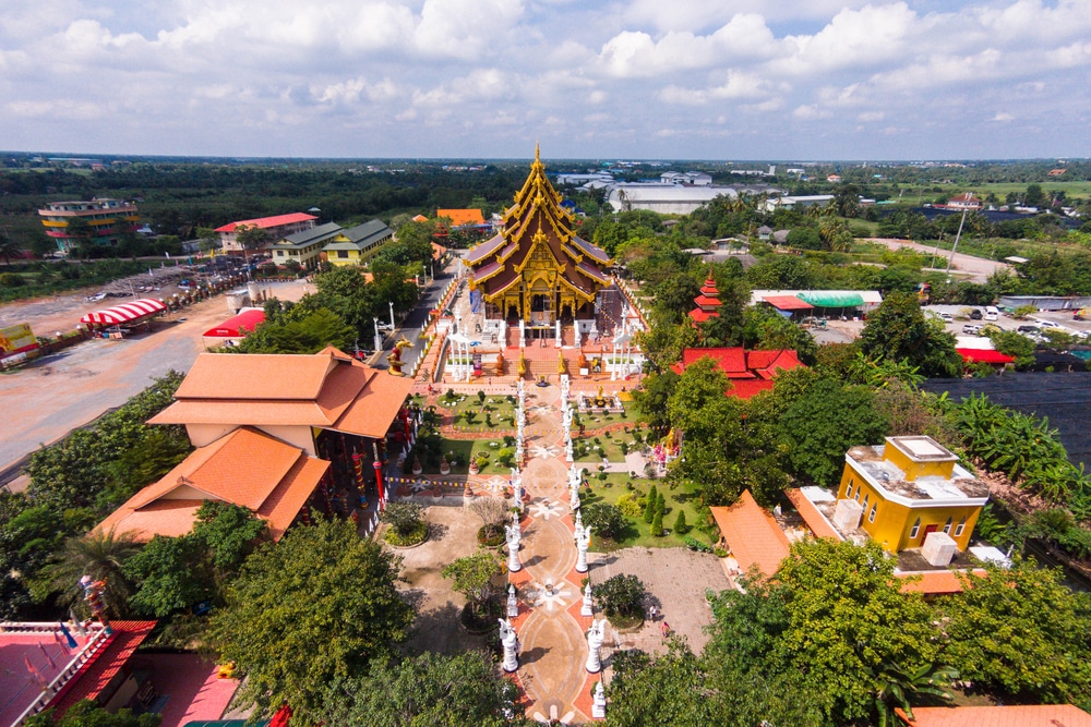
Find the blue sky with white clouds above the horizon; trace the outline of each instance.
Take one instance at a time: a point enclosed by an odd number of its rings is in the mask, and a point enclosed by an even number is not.
[[[1091,0],[4,0],[0,149],[1091,156]]]

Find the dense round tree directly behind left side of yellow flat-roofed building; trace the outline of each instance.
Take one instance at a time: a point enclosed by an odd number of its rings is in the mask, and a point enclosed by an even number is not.
[[[792,469],[819,485],[836,481],[844,452],[883,440],[887,421],[865,386],[823,378],[793,401],[778,423]]]

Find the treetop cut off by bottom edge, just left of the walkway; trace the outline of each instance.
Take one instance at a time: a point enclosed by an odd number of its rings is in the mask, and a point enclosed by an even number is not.
[[[425,652],[375,662],[365,678],[338,680],[324,700],[324,722],[346,727],[503,727],[525,724],[518,689],[479,652]]]

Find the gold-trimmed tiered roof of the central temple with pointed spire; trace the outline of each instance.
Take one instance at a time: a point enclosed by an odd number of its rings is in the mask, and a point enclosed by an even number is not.
[[[472,268],[471,289],[480,290],[489,302],[496,301],[519,283],[539,243],[548,247],[561,286],[583,302],[594,301],[599,289],[609,284],[602,268],[610,256],[576,235],[572,215],[561,206],[561,195],[546,177],[536,148],[530,174],[504,214],[503,229],[464,258]]]

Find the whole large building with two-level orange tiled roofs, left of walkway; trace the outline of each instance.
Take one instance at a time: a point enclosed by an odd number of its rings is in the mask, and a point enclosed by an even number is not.
[[[382,506],[388,452],[416,439],[411,389],[411,378],[333,347],[313,355],[202,353],[175,402],[148,420],[184,426],[197,451],[103,524],[188,532],[200,500],[224,499],[277,533],[297,513],[308,517],[303,505],[315,490],[319,509],[331,514],[350,516],[357,501]]]

